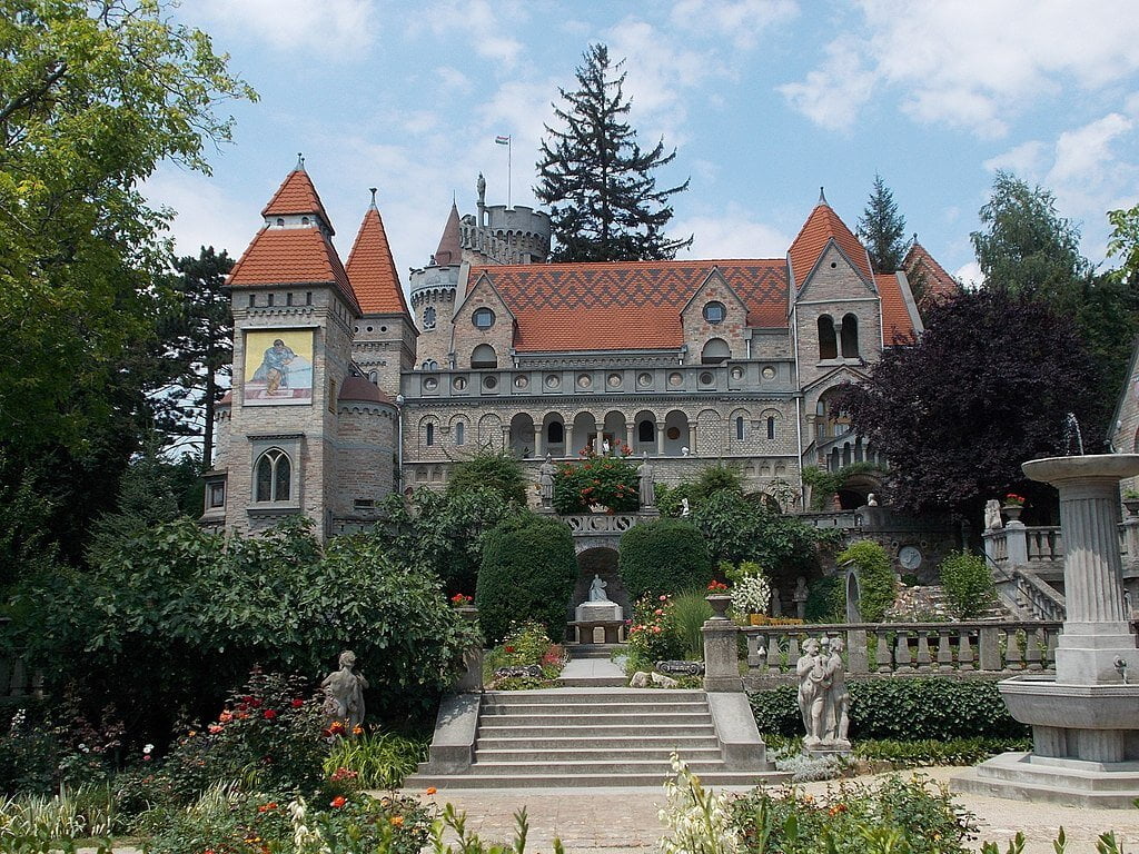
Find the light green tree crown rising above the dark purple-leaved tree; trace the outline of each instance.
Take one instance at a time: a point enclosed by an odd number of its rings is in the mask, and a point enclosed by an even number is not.
[[[1091,265],[1080,254],[1080,229],[1059,215],[1050,191],[998,172],[980,216],[984,228],[969,239],[985,288],[1074,307]]]

